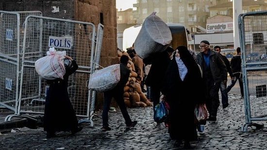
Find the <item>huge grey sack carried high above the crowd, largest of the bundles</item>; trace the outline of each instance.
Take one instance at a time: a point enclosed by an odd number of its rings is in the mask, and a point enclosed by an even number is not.
[[[167,49],[172,40],[167,24],[152,13],[147,17],[134,41],[134,50],[141,58],[147,58],[151,53]]]

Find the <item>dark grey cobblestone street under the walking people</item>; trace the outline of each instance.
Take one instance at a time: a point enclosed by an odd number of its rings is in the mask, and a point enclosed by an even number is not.
[[[199,141],[192,142],[195,150],[266,150],[266,128],[249,127],[249,132],[241,132],[245,115],[244,101],[239,97],[229,94],[230,106],[226,109],[220,106],[217,121],[207,122],[205,133],[199,134]],[[128,110],[132,119],[138,121],[132,131],[125,131],[123,117],[117,110],[109,115],[112,130],[102,132],[101,112],[96,112],[94,127],[84,122],[83,130],[75,135],[62,132],[58,137],[46,139],[43,128],[17,128],[15,133],[0,135],[0,147],[1,150],[178,150],[164,124],[153,121],[152,107]]]

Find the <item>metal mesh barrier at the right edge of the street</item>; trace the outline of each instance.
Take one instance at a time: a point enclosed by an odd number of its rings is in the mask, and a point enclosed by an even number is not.
[[[238,24],[246,118],[241,131],[247,132],[263,127],[252,121],[267,120],[267,11],[239,15]]]

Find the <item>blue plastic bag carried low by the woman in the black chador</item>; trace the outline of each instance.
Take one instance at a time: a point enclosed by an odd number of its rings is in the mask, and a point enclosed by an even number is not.
[[[154,109],[154,121],[157,123],[164,122],[167,120],[168,110],[164,105],[164,101],[160,101]]]

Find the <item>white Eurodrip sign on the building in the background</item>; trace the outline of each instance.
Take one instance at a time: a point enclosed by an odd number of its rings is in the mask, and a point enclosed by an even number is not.
[[[222,31],[233,31],[233,22],[211,23],[206,26],[207,33],[215,33]]]

